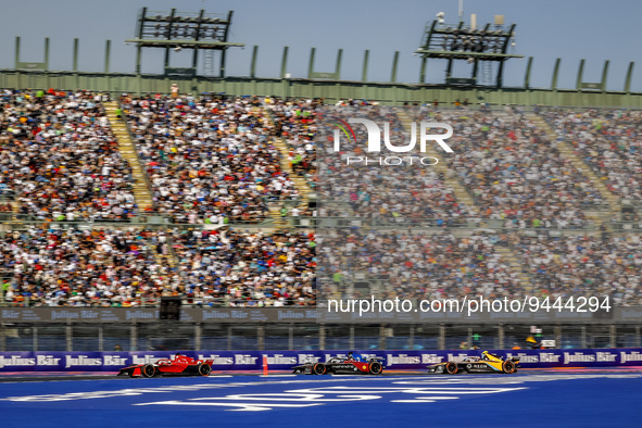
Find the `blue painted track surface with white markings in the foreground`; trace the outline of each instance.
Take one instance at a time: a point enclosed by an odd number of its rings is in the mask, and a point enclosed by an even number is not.
[[[0,383],[5,427],[640,426],[641,373]]]

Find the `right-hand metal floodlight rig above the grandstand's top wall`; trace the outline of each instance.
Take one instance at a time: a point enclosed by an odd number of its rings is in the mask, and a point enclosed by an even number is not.
[[[502,17],[503,21],[503,17]],[[436,20],[426,24],[423,40],[415,55],[423,59],[420,81],[425,81],[426,61],[429,58],[448,60],[445,81],[449,85],[477,85],[479,62],[489,61],[500,64],[495,86],[502,87],[504,61],[524,55],[508,53],[511,39],[515,37],[515,24],[507,29],[503,24],[487,24],[483,28],[476,28],[460,22],[457,25],[443,24]],[[453,78],[451,76],[453,61],[466,61],[473,64],[469,78]]]

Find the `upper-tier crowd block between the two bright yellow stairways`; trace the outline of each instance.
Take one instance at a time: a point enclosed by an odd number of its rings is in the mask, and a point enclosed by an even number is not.
[[[253,98],[125,99],[137,150],[147,163],[155,210],[176,223],[266,217],[266,201],[298,200]]]

